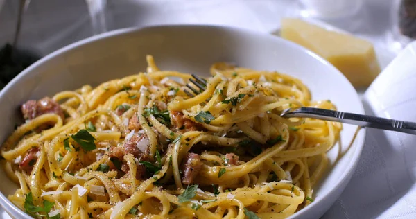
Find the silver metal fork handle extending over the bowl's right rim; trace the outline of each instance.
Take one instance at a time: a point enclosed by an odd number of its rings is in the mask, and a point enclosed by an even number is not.
[[[327,121],[335,121],[341,123],[348,123],[362,127],[378,128],[382,130],[392,130],[396,132],[405,132],[409,134],[416,134],[416,123],[399,121],[395,119],[385,119],[376,116],[367,116],[361,114],[354,114],[349,112],[340,112],[329,109],[318,109],[312,107],[300,107],[284,112],[281,116],[301,117],[322,119]]]

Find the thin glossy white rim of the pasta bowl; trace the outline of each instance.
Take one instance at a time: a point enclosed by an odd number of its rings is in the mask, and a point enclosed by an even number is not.
[[[4,98],[4,96],[8,92],[8,89],[15,86],[15,84],[17,82],[19,82],[19,80],[21,80],[21,78],[24,78],[24,77],[28,76],[31,73],[31,71],[33,71],[33,69],[42,66],[42,64],[44,64],[44,62],[48,62],[49,60],[52,60],[53,58],[55,58],[55,56],[62,55],[64,53],[66,53],[67,51],[71,51],[72,49],[77,49],[80,46],[84,46],[86,44],[91,44],[91,43],[99,41],[99,40],[105,40],[107,38],[117,37],[117,36],[120,36],[120,35],[127,35],[127,34],[130,34],[130,33],[135,33],[135,32],[145,30],[147,28],[210,28],[211,30],[220,29],[220,30],[226,30],[226,31],[234,31],[234,32],[238,32],[240,34],[247,33],[247,34],[250,34],[250,35],[255,35],[256,37],[266,37],[266,38],[269,38],[269,39],[274,40],[274,41],[284,42],[285,44],[289,44],[290,46],[294,47],[295,49],[300,49],[300,50],[304,51],[305,53],[308,53],[309,55],[311,55],[313,58],[315,58],[319,62],[322,62],[322,64],[324,64],[325,66],[331,68],[332,70],[337,71],[338,76],[340,76],[341,78],[344,78],[345,82],[347,82],[347,86],[351,87],[354,90],[354,98],[356,98],[359,101],[359,105],[357,106],[357,109],[359,110],[358,113],[363,113],[363,114],[365,113],[363,103],[362,103],[361,99],[359,98],[359,96],[356,92],[356,89],[354,89],[354,87],[352,86],[351,82],[349,82],[349,80],[347,80],[347,78],[343,75],[343,73],[341,73],[338,69],[336,69],[336,67],[333,67],[333,65],[331,63],[329,63],[327,60],[324,60],[324,58],[320,57],[320,55],[317,55],[317,54],[313,53],[312,51],[309,51],[309,49],[306,49],[303,46],[300,46],[299,44],[295,44],[294,42],[285,40],[285,39],[283,39],[279,36],[272,35],[270,33],[261,33],[259,31],[248,30],[248,29],[245,29],[245,28],[238,28],[238,27],[234,27],[234,26],[219,26],[219,25],[209,25],[209,24],[166,24],[166,25],[162,24],[162,25],[152,25],[152,26],[143,26],[143,27],[129,27],[129,28],[116,29],[116,30],[112,30],[112,31],[109,31],[109,32],[106,32],[106,33],[101,33],[99,35],[93,35],[91,37],[87,37],[83,40],[73,42],[71,44],[68,44],[67,46],[64,46],[64,47],[56,50],[56,51],[53,51],[52,53],[49,53],[48,55],[45,55],[40,60],[37,60],[37,62],[31,64],[31,66],[24,69],[24,71],[21,71],[21,73],[19,73],[19,75],[17,75],[15,78],[13,78],[8,83],[8,85],[3,87],[3,89],[0,91],[0,98]],[[345,186],[347,185],[347,183],[351,179],[351,176],[354,173],[356,166],[358,165],[358,161],[359,161],[359,159],[361,157],[361,154],[363,152],[363,147],[364,147],[366,134],[367,134],[367,130],[365,128],[361,129],[356,134],[356,138],[354,139],[354,142],[356,142],[356,146],[354,148],[349,148],[348,149],[348,150],[352,150],[352,149],[355,150],[352,154],[352,157],[351,157],[352,162],[348,162],[347,168],[345,168],[345,171],[343,171],[343,174],[341,174],[340,177],[339,177],[340,181],[338,182],[338,184],[336,184],[336,186],[333,186],[332,189],[329,189],[329,191],[327,191],[326,194],[322,195],[323,197],[327,197],[327,196],[329,196],[329,195],[331,195],[331,194],[333,194],[333,193],[335,193],[336,191],[339,191],[339,190],[341,190],[340,193],[343,192],[343,190],[345,189]],[[343,186],[344,188],[340,188],[341,186]],[[337,198],[339,198],[339,197],[337,197]],[[333,204],[333,203],[331,203],[331,204]],[[314,202],[309,204],[307,207],[301,209],[300,211],[297,211],[296,213],[294,213],[292,216],[289,216],[288,218],[293,219],[293,218],[297,218],[297,217],[300,217],[300,216],[304,216],[306,213],[308,213],[309,209],[315,209],[315,208],[322,207],[322,206],[324,206],[324,198],[320,198],[318,200],[315,200]],[[1,193],[1,192],[0,192],[0,207],[2,207],[9,214],[9,216],[12,217],[12,218],[28,218],[28,219],[31,218],[31,216],[28,216],[28,214],[26,214],[24,211],[19,209],[19,207],[17,207],[10,200],[8,200],[8,198],[6,198],[6,196],[3,195],[3,193]]]

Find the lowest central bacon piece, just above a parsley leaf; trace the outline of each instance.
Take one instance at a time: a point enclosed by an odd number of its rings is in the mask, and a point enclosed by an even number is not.
[[[202,161],[199,155],[195,153],[188,153],[182,165],[182,183],[192,184],[195,177],[202,168]]]

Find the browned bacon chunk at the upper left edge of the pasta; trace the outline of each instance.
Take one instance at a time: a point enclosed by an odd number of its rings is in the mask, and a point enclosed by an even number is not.
[[[64,112],[60,105],[49,97],[40,100],[28,100],[21,105],[21,113],[23,114],[24,119],[34,119],[37,116],[47,113],[57,114],[62,120],[65,119]]]

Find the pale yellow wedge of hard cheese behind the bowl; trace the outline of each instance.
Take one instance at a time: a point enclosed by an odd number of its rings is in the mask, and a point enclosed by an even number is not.
[[[370,85],[381,71],[372,44],[352,35],[286,18],[281,21],[281,37],[331,62],[355,87]]]

